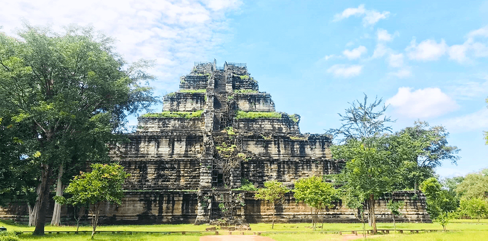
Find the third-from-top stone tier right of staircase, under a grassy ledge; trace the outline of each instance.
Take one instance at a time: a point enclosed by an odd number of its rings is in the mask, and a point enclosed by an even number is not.
[[[235,119],[233,127],[244,131],[300,133],[298,123],[287,118]]]

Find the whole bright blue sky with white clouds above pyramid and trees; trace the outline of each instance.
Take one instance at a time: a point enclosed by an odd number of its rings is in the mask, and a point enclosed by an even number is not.
[[[129,61],[155,59],[156,94],[177,90],[194,61],[245,62],[278,111],[302,132],[340,126],[348,102],[382,97],[395,131],[442,124],[459,147],[444,177],[488,167],[488,1],[13,0],[2,31],[21,20],[91,24],[118,39]],[[161,106],[155,107],[161,109]],[[130,123],[135,124],[136,118]]]

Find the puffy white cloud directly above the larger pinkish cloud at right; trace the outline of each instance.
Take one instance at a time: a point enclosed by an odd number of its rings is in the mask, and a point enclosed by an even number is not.
[[[437,43],[434,39],[426,39],[417,44],[415,38],[410,42],[405,51],[411,60],[438,60],[446,54],[448,45],[446,41],[441,40]]]

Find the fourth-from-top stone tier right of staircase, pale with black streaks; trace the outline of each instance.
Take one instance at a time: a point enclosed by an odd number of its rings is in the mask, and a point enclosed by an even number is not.
[[[293,140],[291,138],[303,138]],[[268,139],[269,138],[269,139]],[[273,135],[270,137],[249,135],[243,137],[246,151],[262,157],[308,157],[332,159],[329,149],[331,143],[326,139],[307,139],[301,136]]]

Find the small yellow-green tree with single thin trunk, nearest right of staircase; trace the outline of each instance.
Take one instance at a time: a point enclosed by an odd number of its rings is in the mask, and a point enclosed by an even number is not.
[[[284,194],[289,191],[279,181],[266,181],[264,182],[264,188],[260,188],[254,195],[256,199],[263,200],[271,206],[273,210],[273,224],[271,225],[271,229],[275,227],[276,205],[284,201]]]

